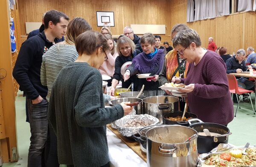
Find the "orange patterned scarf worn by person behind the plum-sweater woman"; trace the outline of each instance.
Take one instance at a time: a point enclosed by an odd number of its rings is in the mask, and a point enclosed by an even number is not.
[[[169,82],[172,82],[172,75],[174,74],[175,70],[177,69],[178,62],[177,62],[177,50],[173,49],[172,51],[169,51],[168,54],[166,54],[166,78]],[[184,78],[186,78],[186,73],[189,68],[189,63],[186,62],[186,68],[184,71]],[[179,71],[177,71],[176,75],[177,77],[180,76]]]

